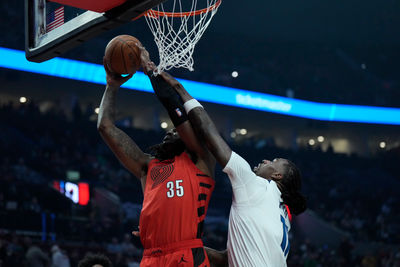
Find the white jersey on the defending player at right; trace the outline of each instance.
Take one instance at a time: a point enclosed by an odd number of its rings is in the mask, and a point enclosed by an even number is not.
[[[233,191],[229,215],[229,266],[286,266],[290,221],[281,192],[274,181],[257,176],[232,151],[223,169]]]

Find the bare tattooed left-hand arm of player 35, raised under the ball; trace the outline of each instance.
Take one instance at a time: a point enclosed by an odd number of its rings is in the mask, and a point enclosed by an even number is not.
[[[143,187],[150,155],[143,153],[136,143],[114,124],[118,89],[132,75],[122,77],[112,74],[108,70],[107,64],[104,64],[104,68],[107,75],[107,86],[100,104],[97,129],[108,147],[114,152],[125,168],[141,180]]]

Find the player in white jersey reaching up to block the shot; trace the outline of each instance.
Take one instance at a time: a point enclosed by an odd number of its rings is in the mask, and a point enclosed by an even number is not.
[[[219,135],[203,107],[181,85],[174,86],[196,134],[228,174],[233,189],[227,253],[207,250],[214,266],[286,266],[290,212],[306,209],[301,175],[286,159],[263,160],[253,171]]]

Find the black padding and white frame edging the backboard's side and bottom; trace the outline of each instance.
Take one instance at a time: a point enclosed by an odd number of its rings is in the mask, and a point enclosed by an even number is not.
[[[44,32],[45,19],[38,17],[45,15],[37,8],[39,1],[42,0],[25,0],[25,55],[34,62],[60,56],[94,36],[132,21],[164,0],[128,0],[103,13],[86,11],[48,33]]]

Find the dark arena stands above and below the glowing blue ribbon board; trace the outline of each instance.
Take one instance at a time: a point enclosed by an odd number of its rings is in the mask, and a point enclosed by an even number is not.
[[[0,4],[0,47],[24,50],[23,9],[22,1]],[[315,102],[400,108],[399,29],[395,0],[224,1],[197,45],[195,71],[171,74]],[[143,20],[62,57],[101,64],[118,34],[139,38],[157,62]],[[49,257],[58,244],[71,266],[89,251],[135,266],[141,245],[130,232],[142,193],[97,133],[104,86],[8,68],[0,79],[0,266],[24,266],[31,242]],[[252,165],[279,156],[300,166],[309,209],[294,219],[289,266],[400,265],[399,125],[203,104]],[[150,93],[122,89],[118,110],[119,125],[143,149],[161,140],[162,122],[171,125]],[[67,182],[89,186],[87,205],[65,196]],[[206,245],[226,247],[230,203],[229,181],[218,170]]]

